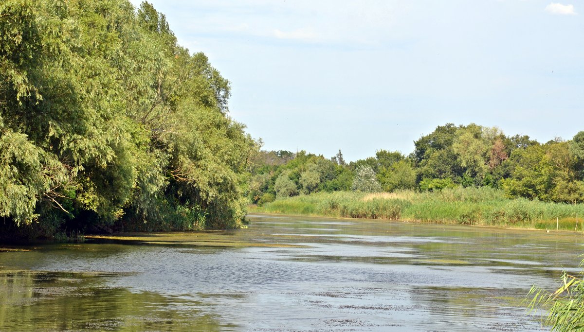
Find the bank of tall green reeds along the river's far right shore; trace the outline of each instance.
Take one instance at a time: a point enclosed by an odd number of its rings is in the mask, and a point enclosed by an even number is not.
[[[584,204],[510,200],[493,188],[454,188],[437,192],[356,193],[337,191],[300,195],[252,207],[251,212],[462,223],[555,230],[582,230]]]

